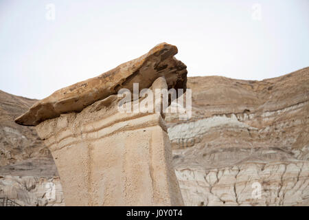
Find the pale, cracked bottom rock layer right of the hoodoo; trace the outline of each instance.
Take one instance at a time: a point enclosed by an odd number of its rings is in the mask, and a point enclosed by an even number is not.
[[[309,198],[309,162],[176,168],[186,206],[297,206]],[[260,184],[256,197],[254,184]]]

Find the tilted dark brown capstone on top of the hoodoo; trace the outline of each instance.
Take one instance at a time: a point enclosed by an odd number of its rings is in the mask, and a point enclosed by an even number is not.
[[[56,118],[62,113],[79,112],[122,88],[133,91],[133,83],[139,89],[148,88],[160,76],[164,76],[168,89],[186,89],[187,67],[174,58],[177,47],[160,43],[147,54],[128,61],[95,78],[84,80],[55,91],[36,102],[26,113],[15,119],[17,124],[36,126],[44,120]]]

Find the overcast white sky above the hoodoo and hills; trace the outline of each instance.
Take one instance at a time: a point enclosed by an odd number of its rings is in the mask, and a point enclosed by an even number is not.
[[[308,0],[0,0],[0,89],[45,98],[161,42],[188,76],[262,80],[308,67],[308,39]]]

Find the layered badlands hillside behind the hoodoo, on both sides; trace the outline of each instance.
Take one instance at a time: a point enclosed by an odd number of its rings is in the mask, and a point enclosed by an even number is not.
[[[309,205],[309,67],[262,81],[192,77],[187,88],[192,118],[165,118],[185,205]],[[0,197],[63,206],[49,150],[14,123],[34,102],[0,91]]]

